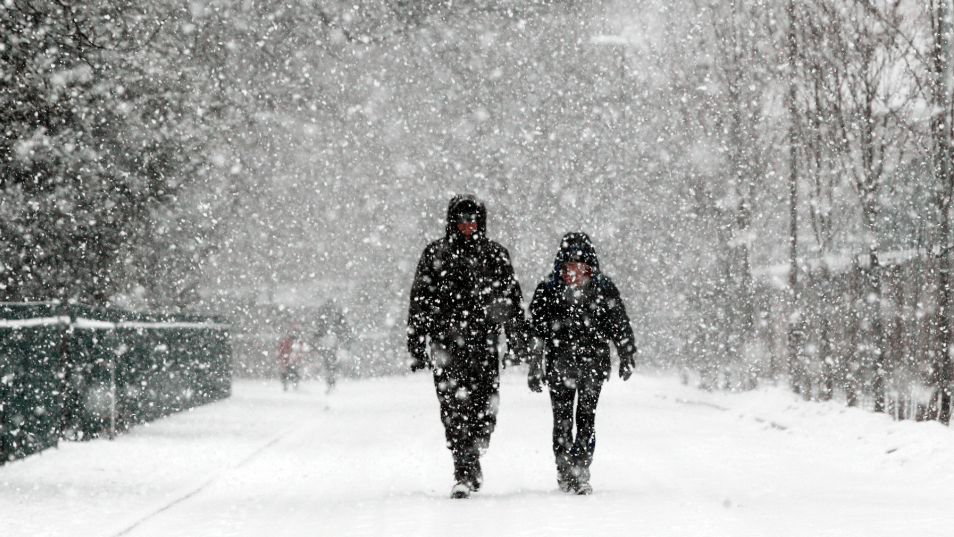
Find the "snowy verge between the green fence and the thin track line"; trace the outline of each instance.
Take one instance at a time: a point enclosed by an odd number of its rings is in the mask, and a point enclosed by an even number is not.
[[[114,441],[60,442],[0,466],[0,532],[114,535],[221,476],[291,426],[276,419],[280,410],[255,383],[236,387],[237,397],[135,426]]]

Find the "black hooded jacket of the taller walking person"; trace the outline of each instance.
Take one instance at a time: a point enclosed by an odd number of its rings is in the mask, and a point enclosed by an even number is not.
[[[473,215],[477,223],[470,238],[457,228],[462,214]],[[454,197],[447,205],[444,238],[425,247],[414,275],[408,352],[425,360],[426,337],[468,354],[496,352],[503,327],[509,348],[522,358],[529,332],[522,302],[507,248],[487,239],[484,204],[470,195]]]

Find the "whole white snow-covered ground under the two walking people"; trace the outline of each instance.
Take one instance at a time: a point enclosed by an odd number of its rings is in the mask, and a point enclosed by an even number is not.
[[[613,378],[590,497],[561,494],[550,405],[504,375],[485,489],[448,498],[429,375],[237,380],[234,397],[117,440],[0,466],[4,536],[949,536],[954,432],[778,388]]]

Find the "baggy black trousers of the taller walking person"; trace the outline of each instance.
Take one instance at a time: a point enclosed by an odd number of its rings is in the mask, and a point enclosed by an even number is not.
[[[472,482],[480,479],[480,453],[497,425],[500,376],[495,357],[491,363],[486,353],[457,353],[443,366],[435,364],[434,386],[447,447],[454,456],[454,478]]]

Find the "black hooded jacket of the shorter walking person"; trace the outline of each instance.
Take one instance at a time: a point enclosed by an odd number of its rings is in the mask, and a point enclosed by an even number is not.
[[[567,263],[586,263],[590,281],[573,288],[563,279]],[[596,250],[586,233],[564,235],[553,271],[536,288],[530,302],[534,334],[543,341],[550,385],[568,377],[610,376],[610,345],[620,360],[633,363],[633,328],[619,290],[599,269]]]

